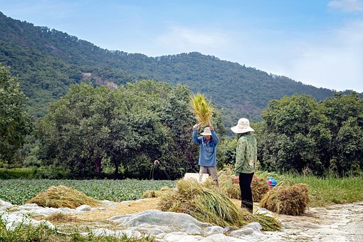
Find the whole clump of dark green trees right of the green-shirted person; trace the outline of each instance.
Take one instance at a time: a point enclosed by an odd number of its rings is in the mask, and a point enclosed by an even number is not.
[[[272,100],[258,130],[261,167],[340,175],[363,170],[363,98],[336,94],[322,102],[307,95]]]

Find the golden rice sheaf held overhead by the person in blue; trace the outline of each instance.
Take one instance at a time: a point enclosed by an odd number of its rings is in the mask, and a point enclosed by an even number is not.
[[[208,126],[213,115],[211,103],[201,93],[191,96],[191,107],[196,119],[202,126]]]

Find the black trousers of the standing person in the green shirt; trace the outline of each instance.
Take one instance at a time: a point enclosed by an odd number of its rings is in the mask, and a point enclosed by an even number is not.
[[[253,212],[253,198],[251,190],[251,182],[253,174],[240,173],[239,174],[239,187],[241,189],[241,208],[245,208],[251,213]]]

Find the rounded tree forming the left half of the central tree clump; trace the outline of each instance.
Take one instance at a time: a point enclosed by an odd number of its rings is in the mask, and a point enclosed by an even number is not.
[[[107,87],[72,85],[36,123],[41,158],[67,167],[73,177],[100,176],[102,162],[107,159],[108,124],[114,105],[113,93]]]

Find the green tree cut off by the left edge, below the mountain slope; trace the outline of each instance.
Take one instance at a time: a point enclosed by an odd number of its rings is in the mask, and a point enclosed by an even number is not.
[[[9,68],[0,65],[0,161],[9,162],[23,146],[32,129],[31,117],[24,111],[26,96]]]

